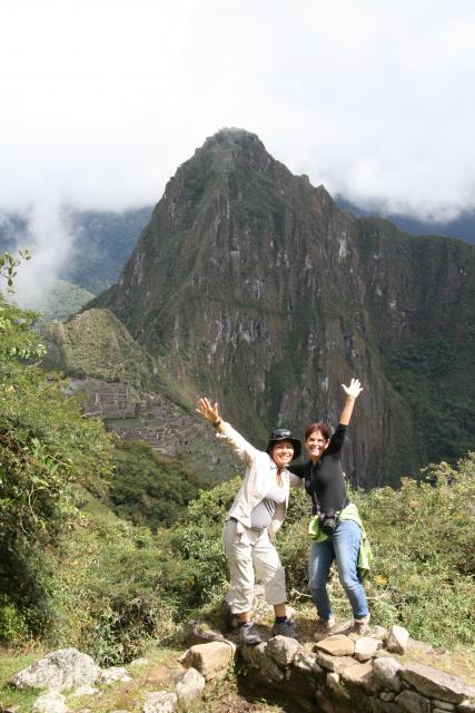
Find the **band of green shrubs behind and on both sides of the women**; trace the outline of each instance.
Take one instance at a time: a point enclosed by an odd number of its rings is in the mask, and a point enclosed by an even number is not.
[[[422,481],[403,479],[399,490],[352,494],[375,551],[366,584],[373,621],[399,623],[435,645],[469,646],[475,624],[475,456],[457,468],[432,466],[423,476]],[[69,557],[85,566],[62,575],[70,621],[76,622],[78,607],[77,600],[72,606],[73,592],[80,593],[80,611],[87,613],[70,636],[105,661],[121,661],[136,655],[149,637],[176,637],[190,615],[222,624],[227,570],[220,534],[239,482],[236,478],[201,492],[179,521],[156,535],[115,518],[88,496],[82,525],[69,540]],[[293,492],[278,536],[290,597],[300,604],[308,602],[308,515],[307,497]],[[337,616],[348,618],[335,575],[330,588]],[[306,606],[303,612],[309,615]]]

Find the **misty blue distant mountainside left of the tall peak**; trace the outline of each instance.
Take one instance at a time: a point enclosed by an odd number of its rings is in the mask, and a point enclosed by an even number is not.
[[[32,260],[16,281],[14,300],[44,319],[67,319],[113,284],[151,207],[121,213],[51,206],[0,214],[0,252],[28,247]]]

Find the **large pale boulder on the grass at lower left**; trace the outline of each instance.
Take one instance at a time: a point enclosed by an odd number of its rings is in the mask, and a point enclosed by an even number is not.
[[[77,648],[59,648],[10,678],[17,688],[76,688],[92,685],[101,673],[87,654]]]

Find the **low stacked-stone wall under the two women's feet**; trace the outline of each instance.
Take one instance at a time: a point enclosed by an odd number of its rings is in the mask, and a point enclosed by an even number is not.
[[[339,631],[317,643],[275,636],[258,646],[241,645],[238,665],[253,687],[278,692],[303,712],[475,713],[475,688],[462,677],[419,663],[420,652],[434,649],[410,639],[405,628],[387,632],[375,626],[365,636],[349,633],[347,625]],[[202,625],[195,626],[194,634],[192,641],[200,643],[182,662],[209,678],[216,660],[219,676],[219,656],[232,643]],[[409,661],[403,663],[403,655]]]

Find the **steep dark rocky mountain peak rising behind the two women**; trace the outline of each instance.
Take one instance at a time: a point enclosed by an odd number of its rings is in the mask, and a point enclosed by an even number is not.
[[[257,136],[226,129],[179,167],[95,304],[181,399],[207,392],[257,446],[276,424],[336,424],[340,384],[358,375],[345,466],[353,482],[377,485],[438,456],[433,418],[447,421],[446,458],[469,438],[473,254],[357,219]]]

